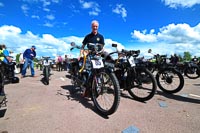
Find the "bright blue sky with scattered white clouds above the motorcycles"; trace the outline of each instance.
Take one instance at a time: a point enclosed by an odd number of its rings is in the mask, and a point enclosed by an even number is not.
[[[68,54],[98,20],[105,49],[200,56],[200,0],[0,0],[0,43],[14,54],[32,45],[37,57]]]

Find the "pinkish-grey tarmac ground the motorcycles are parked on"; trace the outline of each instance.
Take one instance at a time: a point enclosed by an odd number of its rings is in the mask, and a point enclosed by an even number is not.
[[[159,88],[147,102],[123,91],[118,110],[101,116],[89,98],[74,93],[66,71],[52,71],[49,85],[36,77],[5,85],[7,106],[0,108],[0,133],[199,133],[200,78],[185,77],[184,88],[174,94]],[[17,74],[16,76],[19,76]]]

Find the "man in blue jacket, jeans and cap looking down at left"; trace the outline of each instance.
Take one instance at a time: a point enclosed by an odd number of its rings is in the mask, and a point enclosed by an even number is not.
[[[32,46],[30,49],[26,49],[23,57],[24,57],[24,65],[22,69],[22,78],[25,77],[26,75],[26,69],[28,65],[31,67],[31,76],[35,76],[35,71],[34,71],[34,62],[33,59],[36,57],[36,47]]]

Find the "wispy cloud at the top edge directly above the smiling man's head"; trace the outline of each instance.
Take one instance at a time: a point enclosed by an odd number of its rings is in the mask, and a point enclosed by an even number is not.
[[[101,10],[99,9],[99,4],[93,1],[85,2],[84,0],[79,0],[83,9],[89,10],[89,15],[98,16]]]

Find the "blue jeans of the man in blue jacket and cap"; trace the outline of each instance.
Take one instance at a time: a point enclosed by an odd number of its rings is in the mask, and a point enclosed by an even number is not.
[[[25,58],[25,62],[22,68],[22,75],[25,76],[26,75],[26,69],[28,67],[28,64],[30,64],[30,68],[31,68],[31,75],[34,76],[35,75],[35,71],[34,71],[34,62],[31,59]]]

